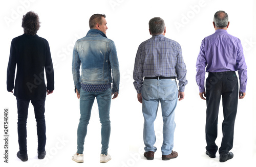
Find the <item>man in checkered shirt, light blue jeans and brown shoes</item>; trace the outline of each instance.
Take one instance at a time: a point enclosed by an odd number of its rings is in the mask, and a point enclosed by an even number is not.
[[[179,101],[184,99],[187,84],[186,66],[180,44],[164,37],[164,20],[160,17],[152,18],[149,27],[152,38],[139,45],[133,73],[134,87],[138,93],[138,101],[142,103],[144,116],[144,156],[152,160],[157,150],[154,147],[154,121],[160,102],[163,116],[162,160],[169,160],[178,156],[178,153],[173,151],[176,127],[174,110],[178,98]],[[179,80],[179,90],[176,78]]]

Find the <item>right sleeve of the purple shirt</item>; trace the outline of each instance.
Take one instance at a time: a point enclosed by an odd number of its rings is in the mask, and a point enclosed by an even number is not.
[[[240,92],[245,93],[246,91],[246,84],[247,84],[247,66],[245,63],[243,47],[241,41],[239,40],[238,43],[238,51],[237,51],[237,68],[238,68],[238,75],[240,80]]]

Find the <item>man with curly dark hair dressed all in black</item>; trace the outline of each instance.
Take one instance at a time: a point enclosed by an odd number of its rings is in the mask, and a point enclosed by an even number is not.
[[[29,102],[34,106],[38,137],[38,159],[46,155],[45,100],[54,90],[54,73],[48,41],[36,35],[40,27],[39,17],[34,12],[23,16],[24,34],[11,42],[10,58],[7,68],[7,90],[17,99],[18,144],[17,157],[28,160],[27,118]],[[15,69],[17,65],[14,85]],[[45,84],[45,74],[47,85]]]

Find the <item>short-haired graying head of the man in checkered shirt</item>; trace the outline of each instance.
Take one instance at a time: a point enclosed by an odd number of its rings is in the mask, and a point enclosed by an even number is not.
[[[164,20],[160,17],[154,17],[148,22],[148,25],[150,26],[150,32],[152,35],[159,35],[164,32]]]

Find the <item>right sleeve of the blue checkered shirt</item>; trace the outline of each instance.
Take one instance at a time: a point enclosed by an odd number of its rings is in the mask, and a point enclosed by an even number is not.
[[[179,46],[178,52],[177,52],[176,74],[177,74],[177,79],[179,80],[180,92],[184,92],[185,85],[187,85],[187,82],[188,82],[186,80],[186,73],[187,73],[186,65],[182,57],[181,47]]]

